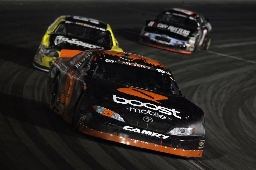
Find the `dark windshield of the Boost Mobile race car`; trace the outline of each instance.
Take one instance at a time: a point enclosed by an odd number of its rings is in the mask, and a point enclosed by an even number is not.
[[[98,63],[93,77],[160,93],[181,95],[169,75],[154,70],[116,63]]]

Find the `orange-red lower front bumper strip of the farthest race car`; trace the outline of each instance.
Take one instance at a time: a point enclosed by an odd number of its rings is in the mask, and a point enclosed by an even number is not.
[[[178,53],[183,53],[183,54],[192,54],[193,53],[192,51],[187,51],[183,48],[179,48],[178,46],[163,45],[163,44],[151,41],[146,37],[141,37],[139,40],[139,43],[147,45],[147,46],[156,47],[156,48],[173,51],[173,52],[178,52]]]

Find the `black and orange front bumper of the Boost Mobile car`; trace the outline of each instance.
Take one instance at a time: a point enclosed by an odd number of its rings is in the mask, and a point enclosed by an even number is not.
[[[95,116],[93,116],[89,123],[85,124],[84,122],[80,121],[78,130],[91,136],[139,148],[146,148],[184,157],[202,156],[203,149],[199,149],[199,144],[201,141],[203,141],[204,143],[203,136],[178,136],[165,134],[170,137],[167,139],[161,139],[157,137],[152,137],[150,135],[125,130],[125,126],[131,126],[127,123],[118,122],[117,125],[115,123],[116,120],[106,120],[107,118],[102,119],[101,115],[98,118],[95,118]]]

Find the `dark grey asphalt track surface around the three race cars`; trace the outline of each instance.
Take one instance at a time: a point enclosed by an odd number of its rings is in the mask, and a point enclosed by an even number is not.
[[[138,43],[146,19],[170,7],[213,27],[209,51],[186,55]],[[255,169],[256,3],[0,2],[1,169]],[[60,15],[108,22],[126,52],[162,61],[206,114],[202,158],[182,158],[91,137],[49,111],[47,73],[32,66]]]

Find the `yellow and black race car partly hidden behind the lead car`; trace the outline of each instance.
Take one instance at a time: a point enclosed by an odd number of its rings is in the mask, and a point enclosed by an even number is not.
[[[48,71],[62,49],[121,51],[109,24],[80,16],[60,16],[47,29],[34,56],[33,65]]]

